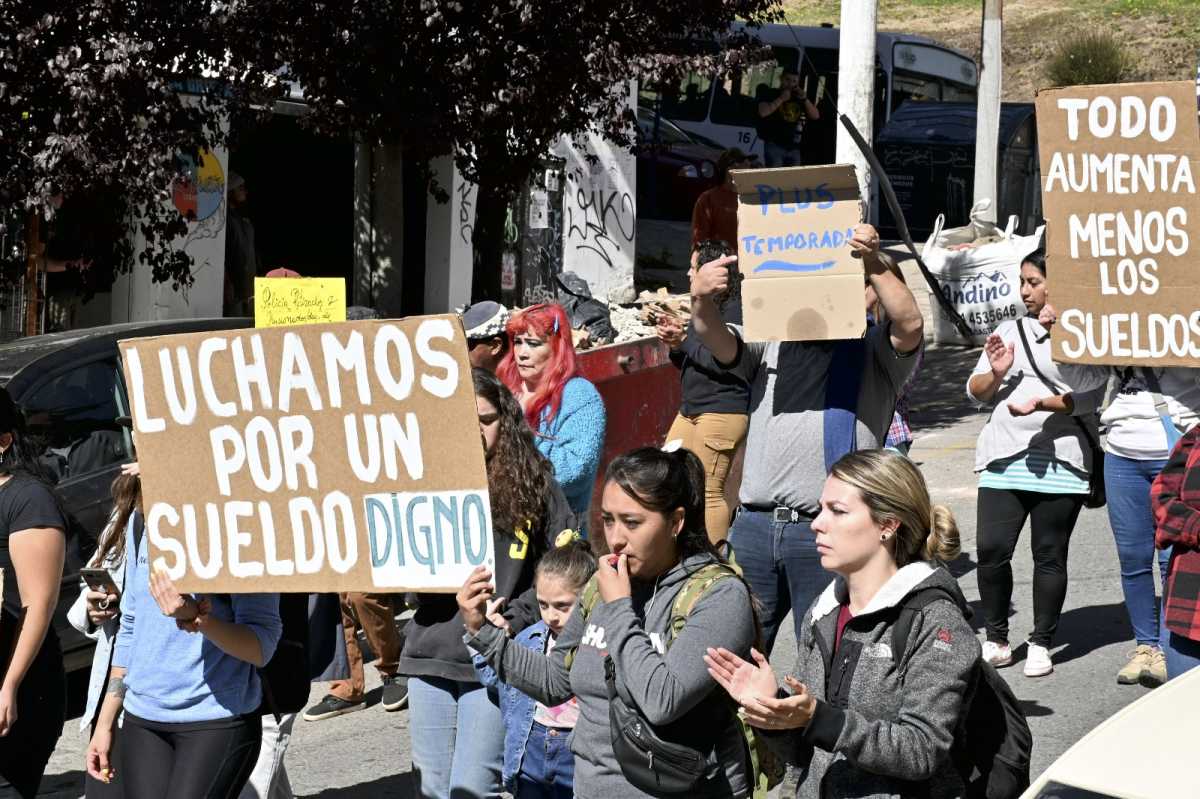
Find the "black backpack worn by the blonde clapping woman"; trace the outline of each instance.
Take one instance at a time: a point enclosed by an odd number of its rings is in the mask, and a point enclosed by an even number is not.
[[[892,627],[892,651],[898,660],[904,655],[917,614],[943,599],[962,607],[959,597],[944,588],[914,591],[900,606]],[[966,785],[967,799],[1016,799],[1030,787],[1033,751],[1025,711],[1004,678],[983,659],[976,665],[972,681],[950,759]]]

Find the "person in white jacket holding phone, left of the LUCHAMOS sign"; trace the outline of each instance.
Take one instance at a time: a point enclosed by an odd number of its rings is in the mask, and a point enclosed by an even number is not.
[[[67,621],[96,642],[88,678],[88,702],[79,717],[79,731],[90,738],[96,728],[100,704],[108,690],[113,648],[120,629],[121,595],[125,590],[125,528],[130,518],[142,512],[142,481],[138,464],[121,467],[113,480],[113,513],[100,536],[88,566],[79,570],[79,596],[67,611]],[[113,729],[113,757],[120,749],[120,726]],[[90,774],[84,777],[84,797],[103,799],[124,797],[121,782],[104,782]]]

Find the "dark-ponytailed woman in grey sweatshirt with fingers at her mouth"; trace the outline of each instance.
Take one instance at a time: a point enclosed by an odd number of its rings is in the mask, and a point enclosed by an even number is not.
[[[701,656],[714,645],[749,655],[758,624],[749,589],[704,529],[700,459],[684,449],[622,455],[605,476],[601,518],[612,554],[552,651],[532,651],[490,624],[492,576],[482,567],[458,593],[463,641],[547,707],[577,697],[580,799],[751,795],[751,751]],[[680,761],[695,768],[676,768]]]

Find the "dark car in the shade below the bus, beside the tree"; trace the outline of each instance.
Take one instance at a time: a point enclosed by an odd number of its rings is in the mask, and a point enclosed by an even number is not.
[[[654,110],[637,109],[637,212],[653,220],[690,221],[702,192],[716,186],[721,149],[701,142]]]

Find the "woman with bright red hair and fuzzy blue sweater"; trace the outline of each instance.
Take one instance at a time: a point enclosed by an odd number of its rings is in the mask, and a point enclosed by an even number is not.
[[[583,527],[604,447],[600,392],[576,374],[571,323],[560,305],[533,305],[512,314],[511,347],[497,377],[512,391],[536,433],[538,450]]]

